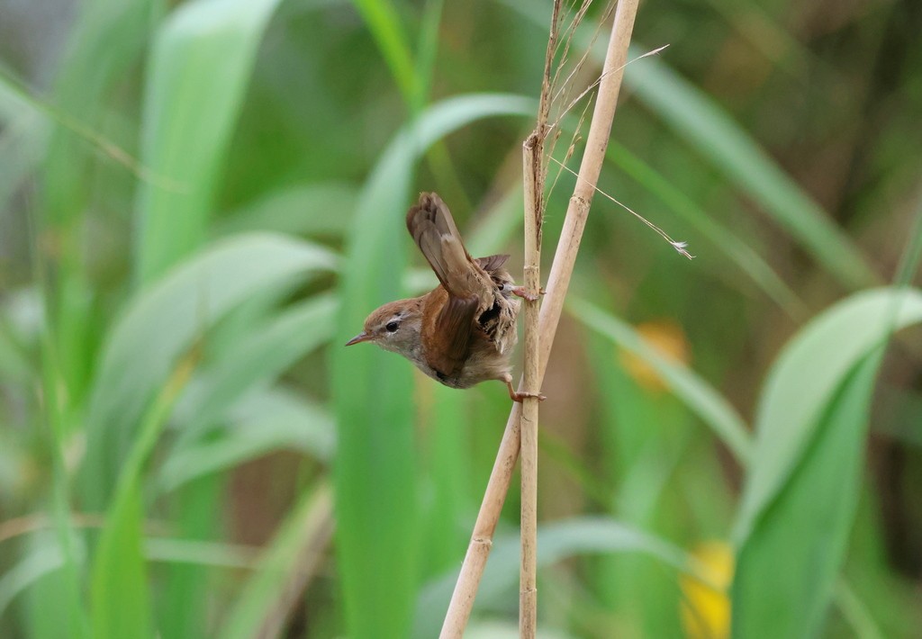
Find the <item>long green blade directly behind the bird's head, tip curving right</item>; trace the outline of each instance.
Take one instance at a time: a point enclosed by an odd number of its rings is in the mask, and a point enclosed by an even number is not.
[[[533,101],[471,95],[433,105],[385,150],[359,204],[340,286],[337,344],[376,306],[401,295],[403,217],[420,153],[456,128],[497,115],[527,117]],[[337,553],[349,634],[406,636],[420,569],[410,368],[368,345],[333,350],[339,428]]]

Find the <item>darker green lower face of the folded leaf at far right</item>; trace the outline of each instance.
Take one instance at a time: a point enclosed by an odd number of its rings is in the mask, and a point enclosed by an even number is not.
[[[862,451],[881,351],[848,375],[814,444],[739,550],[733,636],[817,636],[855,514]]]

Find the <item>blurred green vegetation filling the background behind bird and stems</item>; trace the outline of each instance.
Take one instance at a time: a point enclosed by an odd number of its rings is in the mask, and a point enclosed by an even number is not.
[[[0,635],[435,636],[508,397],[341,344],[434,282],[420,190],[521,263],[549,17],[0,2]],[[599,185],[696,258],[596,198],[543,389],[543,636],[918,636],[920,32],[916,0],[642,4],[633,55],[669,47]],[[516,635],[516,502],[469,636]]]

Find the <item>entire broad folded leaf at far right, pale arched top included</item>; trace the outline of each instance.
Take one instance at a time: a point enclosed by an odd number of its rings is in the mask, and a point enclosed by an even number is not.
[[[735,531],[734,636],[820,632],[855,515],[883,347],[917,322],[922,292],[864,291],[806,325],[774,365]]]

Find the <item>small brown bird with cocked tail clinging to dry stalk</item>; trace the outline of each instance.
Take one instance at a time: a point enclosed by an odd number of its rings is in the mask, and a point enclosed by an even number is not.
[[[515,392],[509,363],[522,303],[514,296],[532,298],[502,267],[509,255],[471,257],[451,212],[434,193],[420,194],[419,204],[410,207],[407,229],[441,284],[420,297],[384,304],[346,346],[373,342],[452,388],[499,380],[514,401],[522,401],[527,395]]]

